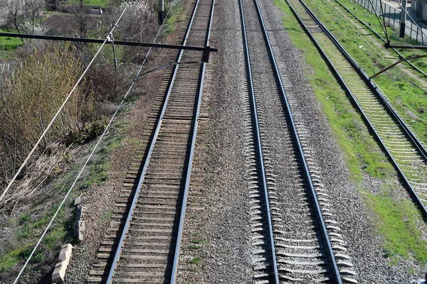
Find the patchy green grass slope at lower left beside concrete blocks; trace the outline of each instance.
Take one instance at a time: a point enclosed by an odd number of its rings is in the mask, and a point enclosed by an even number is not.
[[[39,246],[36,254],[33,256],[30,262],[33,268],[44,266],[49,261],[53,261],[60,246],[63,244],[75,244],[73,236],[73,221],[75,219],[73,200],[92,183],[100,183],[107,179],[107,170],[110,167],[107,154],[112,149],[120,146],[123,139],[122,133],[127,129],[127,126],[128,123],[126,121],[117,121],[110,130],[109,135],[102,141],[99,150],[95,152],[92,162],[89,163],[82,178],[75,185],[67,202],[60,209],[51,229],[41,242],[41,246]],[[91,151],[91,149],[88,150]],[[58,209],[60,200],[62,200],[72,185],[86,157],[85,155],[79,158],[70,170],[67,170],[63,175],[60,175],[47,185],[46,192],[49,192],[49,195],[54,195],[53,197],[46,197],[44,195],[38,197],[33,201],[33,207],[30,211],[20,214],[19,217],[11,218],[8,223],[1,225],[1,229],[9,228],[11,231],[14,231],[15,236],[1,246],[0,275],[2,277],[7,277],[9,273],[14,275],[14,271],[21,268],[21,264],[19,263],[26,261],[36,241],[38,241],[38,238],[46,229],[53,214]],[[46,204],[46,200],[49,198],[53,199],[49,202],[51,205]]]

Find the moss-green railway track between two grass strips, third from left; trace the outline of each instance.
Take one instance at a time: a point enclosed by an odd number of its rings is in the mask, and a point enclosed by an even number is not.
[[[426,148],[304,2],[286,1],[427,217]]]

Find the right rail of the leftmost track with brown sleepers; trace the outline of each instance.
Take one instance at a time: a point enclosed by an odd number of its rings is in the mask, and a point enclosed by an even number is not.
[[[215,6],[215,0],[212,0],[211,11],[209,12],[208,29],[206,31],[205,46],[209,45],[209,37],[211,36],[212,18],[214,16],[214,6]],[[179,228],[178,228],[178,234],[176,239],[174,263],[172,265],[171,283],[176,283],[176,275],[178,273],[179,251],[181,246],[182,232],[184,231],[186,200],[189,193],[189,186],[190,186],[190,179],[191,179],[191,165],[193,163],[193,157],[194,157],[194,146],[196,145],[197,126],[199,124],[201,94],[203,92],[205,70],[206,70],[206,62],[203,62],[201,64],[201,71],[199,72],[199,84],[197,86],[198,94],[196,97],[197,99],[196,115],[194,117],[193,134],[191,137],[191,148],[189,153],[189,162],[186,170],[186,180],[185,180],[185,187],[184,187],[184,197],[182,200],[182,207],[181,207],[181,216],[179,217]]]

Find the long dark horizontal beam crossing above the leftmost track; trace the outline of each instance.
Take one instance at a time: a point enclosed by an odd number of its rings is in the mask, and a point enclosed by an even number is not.
[[[80,43],[104,43],[104,40],[97,40],[93,38],[70,38],[65,36],[51,36],[51,35],[26,35],[20,33],[0,33],[0,36],[9,38],[33,38],[38,40],[62,40],[62,41],[78,41]],[[131,46],[147,46],[151,48],[170,48],[178,50],[198,50],[204,52],[217,52],[218,48],[211,48],[210,46],[193,46],[193,45],[168,45],[162,43],[138,43],[136,41],[122,41],[113,40],[107,43],[114,43],[115,45],[131,45]]]

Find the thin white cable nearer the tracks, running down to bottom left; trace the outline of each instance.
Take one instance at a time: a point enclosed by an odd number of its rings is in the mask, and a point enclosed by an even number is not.
[[[175,1],[176,1],[176,0],[172,1],[172,6],[174,6]],[[172,6],[171,6],[171,9],[172,9]],[[127,6],[125,7],[125,10],[126,10],[126,8],[127,8]],[[171,9],[169,9],[169,11],[171,11]],[[125,10],[123,11],[123,13],[125,13]],[[162,28],[163,28],[164,22],[166,21],[167,16],[169,16],[169,11],[167,12],[166,16],[164,17],[164,21],[163,21],[163,23],[162,23],[162,26],[160,26],[159,31],[157,32],[157,35],[156,35],[156,37],[155,37],[155,38],[154,38],[154,40],[153,40],[153,43],[155,43],[155,42],[156,42],[157,37],[158,37],[158,36],[159,36],[159,34],[160,34],[160,31],[162,31]],[[123,13],[122,13],[122,16],[123,16]],[[122,18],[122,16],[120,16],[120,18]],[[119,21],[120,21],[120,18],[119,18]],[[118,23],[118,21],[117,21],[117,23]],[[115,26],[117,26],[117,23],[116,23],[116,25],[115,25]],[[113,30],[114,30],[115,26],[113,27]],[[105,43],[105,42],[104,42],[104,43]],[[142,71],[142,67],[144,66],[144,63],[147,61],[147,57],[148,57],[149,53],[151,53],[151,50],[152,50],[152,48],[150,47],[150,48],[149,48],[149,50],[148,50],[148,52],[147,52],[147,55],[145,55],[145,58],[144,58],[144,61],[142,62],[141,67],[139,67],[139,70],[138,70],[138,72],[137,72],[137,76],[138,76],[138,75],[139,75],[139,73]],[[98,51],[98,52],[99,52],[99,51]],[[96,55],[95,55],[95,56],[96,56]],[[136,77],[137,77],[137,76],[136,76]],[[14,284],[16,284],[16,283],[17,283],[17,281],[19,280],[19,278],[21,277],[21,274],[23,273],[23,270],[24,270],[24,269],[26,268],[26,266],[28,265],[28,262],[30,261],[30,259],[31,259],[31,257],[33,256],[33,254],[36,252],[36,249],[38,248],[38,246],[41,244],[41,241],[43,240],[44,236],[46,236],[46,233],[47,233],[48,229],[51,227],[51,225],[52,225],[52,223],[53,223],[53,220],[56,218],[56,216],[58,215],[58,212],[59,212],[59,211],[60,211],[60,209],[63,207],[63,204],[65,203],[65,200],[67,200],[68,195],[70,195],[71,190],[73,190],[73,187],[75,186],[75,184],[77,183],[78,179],[80,178],[80,175],[82,175],[83,170],[85,170],[86,165],[88,165],[90,158],[92,158],[93,153],[95,153],[95,150],[97,149],[97,146],[99,146],[99,144],[100,144],[100,142],[101,142],[102,138],[104,138],[104,136],[105,136],[105,133],[107,133],[107,130],[110,128],[110,125],[112,124],[112,121],[115,119],[115,116],[117,115],[117,112],[120,110],[120,107],[122,107],[122,104],[125,102],[125,99],[126,99],[127,95],[130,93],[130,90],[132,89],[132,87],[134,86],[134,84],[135,84],[135,81],[133,81],[133,82],[132,82],[132,84],[130,85],[129,89],[127,90],[127,92],[126,92],[126,94],[125,94],[125,97],[123,97],[122,102],[120,102],[120,104],[119,104],[119,106],[117,107],[117,109],[116,109],[115,113],[112,115],[112,117],[111,117],[110,121],[108,122],[107,126],[105,127],[104,132],[102,132],[102,135],[101,135],[101,136],[100,136],[100,138],[98,139],[98,141],[97,141],[97,143],[96,143],[95,147],[93,148],[93,150],[92,150],[92,152],[90,153],[90,155],[89,155],[88,159],[86,160],[85,164],[83,165],[83,168],[81,168],[81,169],[80,169],[80,172],[78,173],[77,177],[75,178],[75,180],[74,180],[74,182],[73,182],[73,185],[71,185],[71,187],[70,187],[70,189],[68,190],[67,194],[66,194],[66,195],[65,195],[65,197],[63,198],[63,201],[62,201],[62,202],[60,202],[58,209],[56,210],[55,214],[53,215],[53,217],[52,217],[52,219],[51,219],[51,222],[49,222],[49,224],[48,224],[48,226],[46,227],[45,231],[43,231],[43,234],[41,235],[40,239],[38,240],[38,242],[37,242],[36,246],[34,247],[33,251],[31,251],[31,254],[30,254],[30,256],[28,257],[28,259],[27,259],[26,263],[23,265],[23,268],[22,268],[22,269],[21,269],[21,271],[19,272],[19,275],[16,277],[16,279],[15,279],[15,281],[14,281]]]

